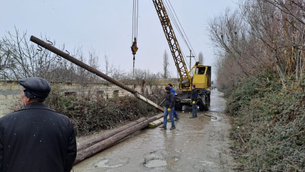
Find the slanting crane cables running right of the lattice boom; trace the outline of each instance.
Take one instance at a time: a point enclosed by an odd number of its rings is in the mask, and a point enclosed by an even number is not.
[[[169,17],[173,21],[175,27],[177,28],[179,34],[181,35],[183,41],[185,42],[185,45],[188,47],[189,50],[192,50],[192,52],[195,52],[193,47],[192,47],[192,45],[190,44],[190,41],[188,40],[188,36],[186,36],[186,34],[185,34],[184,30],[183,30],[183,27],[182,27],[182,25],[181,25],[181,23],[180,23],[180,21],[179,21],[179,19],[177,17],[176,12],[174,12],[174,8],[172,8],[172,4],[170,3],[170,1],[166,1],[166,4],[167,4],[167,6],[165,6],[165,7],[166,7],[166,9],[168,11]],[[181,52],[182,52],[182,50],[181,50]],[[198,61],[196,53],[194,53],[193,55],[195,56],[195,60]]]

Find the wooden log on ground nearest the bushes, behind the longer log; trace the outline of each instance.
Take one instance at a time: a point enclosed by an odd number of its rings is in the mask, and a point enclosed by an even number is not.
[[[115,135],[116,133],[120,133],[121,131],[124,131],[125,129],[133,127],[134,125],[137,125],[137,124],[139,124],[139,122],[143,122],[144,120],[147,120],[147,118],[139,118],[138,120],[135,120],[127,125],[123,125],[122,127],[119,127],[117,129],[112,129],[110,131],[106,131],[102,136],[93,138],[91,140],[87,140],[86,142],[80,144],[80,146],[78,146],[78,151],[82,151],[83,149],[86,149],[87,147],[91,147],[93,144],[100,142],[102,140],[105,140],[106,138],[110,138],[111,136]]]

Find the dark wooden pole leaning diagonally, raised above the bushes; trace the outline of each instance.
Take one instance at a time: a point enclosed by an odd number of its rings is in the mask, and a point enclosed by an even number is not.
[[[135,89],[131,89],[130,87],[124,85],[123,83],[120,83],[119,81],[111,78],[110,76],[107,76],[106,74],[103,74],[102,72],[98,71],[98,69],[94,69],[93,67],[83,63],[82,61],[79,61],[76,58],[74,58],[73,56],[70,56],[69,54],[67,54],[67,53],[65,53],[61,50],[58,50],[56,47],[54,47],[52,45],[49,45],[45,41],[42,41],[41,39],[38,39],[35,36],[31,36],[30,41],[40,45],[41,47],[44,47],[45,49],[47,49],[51,52],[54,52],[58,56],[61,56],[65,59],[67,59],[68,61],[71,61],[72,63],[86,69],[87,71],[92,72],[93,74],[96,74],[97,76],[100,76],[101,78],[104,78],[105,80],[108,80],[110,83],[113,83],[113,84],[117,85],[118,87],[121,87],[122,89],[125,89],[128,92],[131,92],[136,98],[139,98],[140,100],[144,101],[145,103],[148,103],[149,105],[153,105],[154,107],[156,107],[160,111],[164,110],[163,107],[160,107],[156,103],[153,103],[152,101],[148,100],[147,98],[145,98],[144,96],[139,94],[137,91],[135,91]]]

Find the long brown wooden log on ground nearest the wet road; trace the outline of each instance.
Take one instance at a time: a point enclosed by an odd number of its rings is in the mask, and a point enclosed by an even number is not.
[[[148,120],[145,120],[144,122],[140,122],[139,124],[134,125],[133,127],[125,129],[124,131],[121,131],[119,133],[116,133],[114,136],[111,136],[110,138],[106,138],[105,140],[102,140],[101,142],[93,144],[91,147],[87,147],[86,149],[83,149],[82,151],[78,151],[74,164],[77,164],[78,162],[81,162],[82,160],[87,159],[87,158],[91,157],[92,155],[95,155],[95,153],[98,153],[104,149],[111,147],[113,144],[117,143],[118,141],[122,140],[123,138],[126,138],[127,136],[130,136],[132,133],[135,133],[135,131],[139,131],[140,129],[144,129],[145,127],[148,127],[149,122],[157,120],[158,118],[161,118],[161,116],[163,116],[163,114],[153,116],[152,118],[149,118]]]

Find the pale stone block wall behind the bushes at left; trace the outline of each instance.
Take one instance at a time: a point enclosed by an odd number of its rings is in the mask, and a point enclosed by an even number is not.
[[[94,84],[86,87],[82,87],[78,83],[51,83],[52,89],[55,85],[60,85],[60,88],[64,90],[66,95],[69,94],[87,94],[96,95],[102,98],[112,98],[114,96],[133,96],[130,92],[117,87],[113,84]],[[141,93],[142,88],[139,85],[127,85]],[[165,85],[158,85],[154,87],[165,87]],[[21,104],[21,85],[18,81],[3,81],[0,80],[0,117],[10,114],[16,105]],[[152,87],[146,86],[144,92],[151,94]]]

